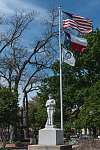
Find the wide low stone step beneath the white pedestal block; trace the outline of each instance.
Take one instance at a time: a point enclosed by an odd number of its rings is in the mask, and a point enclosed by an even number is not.
[[[72,150],[72,145],[29,145],[28,150]]]

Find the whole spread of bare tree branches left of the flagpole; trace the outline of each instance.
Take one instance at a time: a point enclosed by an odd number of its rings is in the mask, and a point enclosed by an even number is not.
[[[57,56],[58,13],[54,8],[50,8],[47,19],[42,20],[44,32],[40,37],[34,37],[34,42],[27,47],[20,44],[24,30],[34,21],[35,17],[36,12],[34,11],[27,14],[15,11],[15,14],[6,20],[10,29],[0,34],[0,53],[2,54],[0,56],[0,77],[8,82],[9,87],[14,87],[17,93],[18,86],[24,83],[23,92],[26,103],[28,102],[27,93],[33,88],[32,80],[38,81],[37,73],[49,68]]]

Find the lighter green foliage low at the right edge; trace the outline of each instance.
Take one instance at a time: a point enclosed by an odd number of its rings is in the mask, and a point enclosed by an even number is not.
[[[81,128],[90,128],[100,126],[100,81],[94,86],[85,89],[83,95],[84,105],[78,116],[81,122]]]

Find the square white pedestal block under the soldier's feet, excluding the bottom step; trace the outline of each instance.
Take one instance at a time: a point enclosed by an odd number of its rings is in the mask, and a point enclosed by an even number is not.
[[[39,130],[39,145],[63,145],[63,131],[58,128],[46,127]]]

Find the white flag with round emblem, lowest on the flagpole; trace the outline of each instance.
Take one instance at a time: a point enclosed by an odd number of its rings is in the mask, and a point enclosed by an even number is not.
[[[75,58],[73,56],[73,53],[66,50],[66,49],[62,49],[62,58],[63,61],[71,66],[75,66]]]

